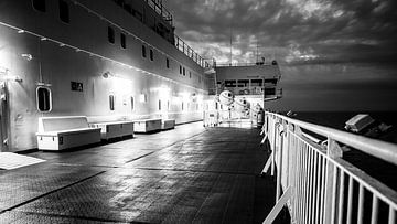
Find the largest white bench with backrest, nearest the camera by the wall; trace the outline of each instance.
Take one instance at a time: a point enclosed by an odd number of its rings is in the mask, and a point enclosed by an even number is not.
[[[100,142],[100,128],[89,128],[87,117],[41,117],[36,132],[40,150],[62,150]]]

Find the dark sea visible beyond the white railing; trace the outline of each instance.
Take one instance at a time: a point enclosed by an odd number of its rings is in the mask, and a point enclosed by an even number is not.
[[[380,136],[379,140],[396,143],[397,149],[397,111],[294,111],[299,120],[344,130],[345,122],[357,114],[368,114],[375,120],[391,125],[390,130]],[[396,150],[397,153],[397,150]],[[343,159],[360,168],[371,177],[397,191],[397,169],[380,159],[363,151],[351,149],[344,152]]]

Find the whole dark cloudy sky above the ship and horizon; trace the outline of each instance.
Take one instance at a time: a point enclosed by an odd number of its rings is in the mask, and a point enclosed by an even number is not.
[[[276,58],[275,109],[397,110],[396,0],[163,0],[205,57]],[[232,35],[230,35],[232,33]]]

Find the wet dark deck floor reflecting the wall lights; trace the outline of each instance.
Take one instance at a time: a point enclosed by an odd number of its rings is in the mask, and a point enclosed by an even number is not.
[[[259,178],[257,129],[173,130],[0,171],[0,223],[260,223],[275,186]]]

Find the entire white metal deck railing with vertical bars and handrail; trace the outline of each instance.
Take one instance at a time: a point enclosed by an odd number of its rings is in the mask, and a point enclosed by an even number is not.
[[[302,129],[328,141],[315,142]],[[350,147],[396,166],[397,146],[272,113],[266,113],[262,134],[271,148],[264,172],[277,175],[276,205],[264,223],[286,205],[291,223],[396,223],[396,191],[342,156]]]

